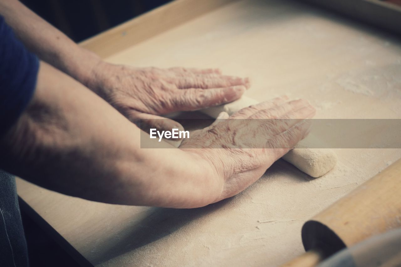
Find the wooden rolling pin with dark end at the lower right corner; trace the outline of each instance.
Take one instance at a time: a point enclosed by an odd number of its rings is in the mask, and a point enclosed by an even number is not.
[[[310,267],[368,237],[401,227],[401,159],[308,220],[306,253],[283,266]]]

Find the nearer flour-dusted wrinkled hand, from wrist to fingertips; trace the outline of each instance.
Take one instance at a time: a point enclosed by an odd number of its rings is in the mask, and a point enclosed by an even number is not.
[[[305,119],[314,114],[315,109],[305,100],[275,98],[231,117],[222,112],[215,123],[192,132],[179,148],[198,154],[213,166],[221,180],[217,202],[247,188],[305,138],[310,127],[310,120]]]

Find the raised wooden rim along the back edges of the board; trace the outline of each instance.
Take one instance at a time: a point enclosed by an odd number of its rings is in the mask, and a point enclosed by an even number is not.
[[[80,43],[104,58],[236,0],[175,0]],[[379,0],[303,0],[401,34],[401,7]]]

